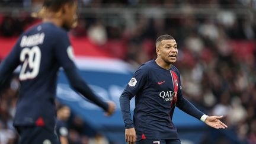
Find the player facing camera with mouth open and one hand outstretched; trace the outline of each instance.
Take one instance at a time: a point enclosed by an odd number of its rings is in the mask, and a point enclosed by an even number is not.
[[[126,142],[139,144],[176,144],[177,129],[172,123],[174,108],[204,121],[208,126],[225,129],[222,116],[207,116],[183,97],[180,72],[172,63],[178,55],[173,37],[162,35],[156,40],[157,58],[144,63],[134,73],[120,97],[126,127]],[[130,100],[135,96],[133,120]]]

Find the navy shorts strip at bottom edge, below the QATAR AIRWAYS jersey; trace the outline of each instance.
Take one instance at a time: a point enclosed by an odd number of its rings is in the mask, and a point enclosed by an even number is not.
[[[136,144],[181,144],[180,139],[175,139],[175,140],[162,140],[162,139],[142,139]]]

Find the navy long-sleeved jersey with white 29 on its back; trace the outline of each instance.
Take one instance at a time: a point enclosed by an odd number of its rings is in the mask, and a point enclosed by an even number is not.
[[[0,87],[5,77],[21,65],[20,98],[14,126],[55,126],[57,72],[62,67],[72,87],[107,110],[107,103],[89,91],[72,60],[68,34],[52,23],[42,23],[23,33],[0,65]],[[89,97],[90,96],[90,97]],[[92,97],[91,97],[92,96]]]

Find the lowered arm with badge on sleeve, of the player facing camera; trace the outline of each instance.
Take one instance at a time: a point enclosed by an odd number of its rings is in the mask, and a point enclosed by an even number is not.
[[[143,67],[140,67],[135,72],[132,79],[130,79],[126,89],[124,89],[123,93],[119,98],[121,113],[123,115],[123,120],[126,128],[125,139],[126,139],[126,142],[129,142],[129,143],[136,142],[136,132],[133,126],[133,121],[130,113],[130,100],[146,84],[146,79],[147,79],[146,77],[147,77],[147,73],[145,69]]]

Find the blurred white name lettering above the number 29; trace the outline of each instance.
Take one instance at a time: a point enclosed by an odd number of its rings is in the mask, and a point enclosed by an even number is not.
[[[44,41],[44,33],[37,33],[31,36],[23,36],[21,38],[21,47],[31,47],[37,46],[38,44],[42,44]]]

